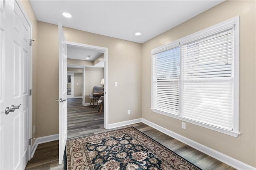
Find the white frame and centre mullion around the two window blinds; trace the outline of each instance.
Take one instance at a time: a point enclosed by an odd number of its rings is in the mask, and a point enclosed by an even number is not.
[[[152,49],[151,51],[151,110],[153,112],[156,112],[156,113],[160,113],[162,115],[166,115],[168,117],[172,117],[172,118],[175,118],[175,119],[179,119],[181,121],[186,121],[188,123],[192,123],[194,125],[198,125],[200,127],[204,127],[204,128],[208,128],[208,129],[211,129],[211,130],[215,130],[217,132],[221,132],[221,133],[224,133],[224,134],[228,134],[230,136],[234,136],[234,137],[237,137],[240,132],[239,132],[239,20],[240,20],[240,17],[239,16],[236,16],[234,18],[231,18],[230,20],[226,20],[224,22],[221,22],[219,24],[216,24],[214,26],[211,26],[209,28],[206,28],[204,30],[201,30],[199,32],[196,32],[194,34],[190,34],[189,36],[186,36],[184,38],[180,38],[174,42],[171,42],[171,43],[168,43],[166,45],[162,45],[160,47],[157,47],[155,49]],[[234,24],[234,39],[233,39],[233,42],[234,42],[234,51],[233,51],[233,62],[234,62],[234,69],[233,69],[233,74],[234,74],[234,87],[233,87],[233,92],[234,92],[234,95],[233,95],[233,101],[234,101],[234,105],[233,105],[233,130],[226,130],[224,128],[219,128],[219,127],[215,127],[215,126],[212,126],[212,125],[208,125],[208,124],[205,124],[205,123],[200,123],[200,122],[197,122],[197,121],[193,121],[193,120],[190,120],[190,119],[187,119],[187,118],[184,118],[182,117],[182,44],[184,43],[188,43],[188,42],[192,42],[194,40],[198,40],[202,37],[206,37],[206,36],[210,36],[212,34],[216,34],[217,32],[219,32],[221,29],[225,29],[226,26],[230,25],[230,24]],[[153,78],[153,75],[154,75],[154,66],[153,66],[153,56],[154,54],[157,54],[157,53],[160,53],[162,51],[166,51],[168,49],[172,49],[172,48],[175,48],[177,46],[180,45],[180,81],[179,81],[179,115],[174,115],[172,113],[168,113],[168,112],[164,112],[164,111],[161,111],[159,109],[156,109],[156,108],[153,108],[153,93],[154,93],[154,78]]]

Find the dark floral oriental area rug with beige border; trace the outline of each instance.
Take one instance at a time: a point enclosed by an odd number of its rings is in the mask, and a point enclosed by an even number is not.
[[[134,127],[67,141],[68,170],[199,170]]]

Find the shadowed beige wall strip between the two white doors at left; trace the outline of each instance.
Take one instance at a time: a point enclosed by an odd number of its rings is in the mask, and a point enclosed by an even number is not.
[[[59,133],[58,27],[38,22],[38,58],[36,67],[37,137]]]

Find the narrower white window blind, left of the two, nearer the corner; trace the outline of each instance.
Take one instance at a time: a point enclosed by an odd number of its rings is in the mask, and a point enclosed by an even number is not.
[[[154,54],[153,68],[153,108],[178,115],[180,47]]]

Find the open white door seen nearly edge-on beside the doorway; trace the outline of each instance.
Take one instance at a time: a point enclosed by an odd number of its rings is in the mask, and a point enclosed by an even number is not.
[[[68,136],[67,112],[67,44],[59,23],[59,164],[62,163]]]

